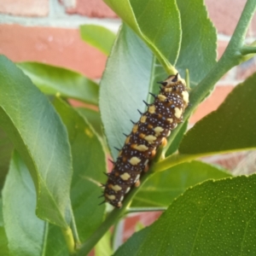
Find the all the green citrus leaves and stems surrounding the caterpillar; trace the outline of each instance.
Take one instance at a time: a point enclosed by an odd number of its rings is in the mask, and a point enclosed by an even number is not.
[[[256,148],[256,73],[189,131],[187,125],[224,73],[256,52],[244,44],[256,0],[247,0],[219,61],[202,0],[105,2],[124,20],[116,38],[102,27],[80,27],[85,41],[109,55],[100,90],[65,68],[15,65],[0,56],[0,252],[87,255],[95,247],[96,255],[254,255],[255,175],[232,177],[198,159]],[[107,155],[116,159],[113,147],[124,143],[143,100],[152,100],[148,91],[157,92],[156,81],[177,70],[192,88],[185,122],[121,209],[98,207]],[[109,229],[119,218],[156,210],[163,211],[159,220],[113,251],[116,229]]]

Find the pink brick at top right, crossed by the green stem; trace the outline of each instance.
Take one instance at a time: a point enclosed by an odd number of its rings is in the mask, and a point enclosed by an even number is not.
[[[232,35],[246,2],[246,0],[206,0],[210,18],[217,27],[218,33]],[[252,27],[255,30],[255,19],[253,19]]]

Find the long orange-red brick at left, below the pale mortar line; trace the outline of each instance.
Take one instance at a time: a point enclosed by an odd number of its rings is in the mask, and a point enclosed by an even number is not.
[[[96,79],[107,57],[85,44],[77,29],[0,25],[0,54],[12,61],[40,61]]]

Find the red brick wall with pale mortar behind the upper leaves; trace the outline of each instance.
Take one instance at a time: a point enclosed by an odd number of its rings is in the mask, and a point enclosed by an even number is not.
[[[246,0],[206,0],[210,18],[218,29],[218,55],[224,52],[245,3]],[[71,68],[99,79],[106,57],[79,38],[78,27],[84,23],[117,30],[120,21],[102,0],[1,0],[0,54],[13,61],[41,61]],[[254,19],[249,37],[255,36],[255,28]],[[254,59],[233,68],[191,122],[217,108],[232,86],[254,71]]]

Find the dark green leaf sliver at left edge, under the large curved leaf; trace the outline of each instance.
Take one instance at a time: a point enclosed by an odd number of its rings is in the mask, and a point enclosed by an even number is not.
[[[7,134],[0,128],[0,191],[3,189],[4,179],[9,170],[9,161],[14,149]]]

